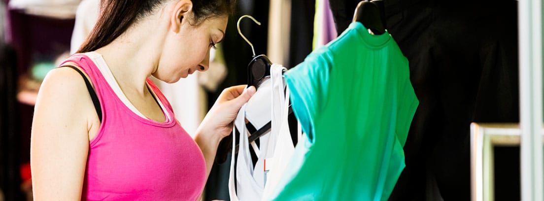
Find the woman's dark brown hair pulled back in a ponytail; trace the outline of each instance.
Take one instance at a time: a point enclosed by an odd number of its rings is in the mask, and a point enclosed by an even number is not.
[[[108,45],[133,23],[151,14],[167,1],[170,0],[101,0],[100,15],[95,27],[77,52],[91,52]],[[231,15],[235,1],[192,0],[194,25],[210,17]]]

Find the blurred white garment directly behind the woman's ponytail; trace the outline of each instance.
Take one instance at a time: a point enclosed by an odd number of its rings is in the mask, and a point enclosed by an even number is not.
[[[91,33],[98,19],[99,10],[100,0],[83,0],[77,7],[76,22],[73,24],[70,41],[70,54],[76,53]]]

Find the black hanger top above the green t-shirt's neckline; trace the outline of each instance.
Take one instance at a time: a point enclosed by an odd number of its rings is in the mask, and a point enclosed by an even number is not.
[[[384,34],[386,31],[384,2],[382,0],[359,2],[353,21],[361,22],[375,35]]]

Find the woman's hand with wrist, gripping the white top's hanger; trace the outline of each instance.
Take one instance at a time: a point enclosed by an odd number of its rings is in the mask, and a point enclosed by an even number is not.
[[[254,86],[248,89],[245,87],[246,85],[238,85],[223,90],[212,109],[202,120],[197,134],[205,135],[207,138],[211,138],[207,140],[217,140],[219,143],[223,137],[232,133],[232,122],[238,115],[238,111],[255,93]]]

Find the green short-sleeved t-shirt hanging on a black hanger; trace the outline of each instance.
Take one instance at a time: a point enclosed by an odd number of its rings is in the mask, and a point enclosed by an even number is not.
[[[306,135],[271,199],[387,200],[419,104],[391,35],[351,23],[285,79]]]

